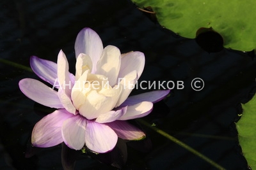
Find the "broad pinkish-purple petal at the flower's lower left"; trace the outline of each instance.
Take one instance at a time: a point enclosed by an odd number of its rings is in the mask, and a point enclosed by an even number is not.
[[[74,115],[66,110],[56,110],[36,123],[31,137],[34,146],[47,148],[63,142],[61,126],[65,120]]]

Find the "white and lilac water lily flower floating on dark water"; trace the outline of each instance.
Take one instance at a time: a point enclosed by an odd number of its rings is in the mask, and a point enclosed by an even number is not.
[[[75,51],[76,75],[68,72],[62,50],[57,63],[36,56],[30,59],[33,71],[58,91],[31,78],[19,82],[27,97],[57,109],[36,123],[32,144],[51,147],[64,142],[74,150],[85,145],[105,153],[115,147],[118,138],[144,138],[143,131],[125,120],[148,115],[153,103],[169,93],[156,90],[129,97],[143,71],[144,54],[121,54],[112,45],[103,48],[99,35],[90,28],[79,32]]]

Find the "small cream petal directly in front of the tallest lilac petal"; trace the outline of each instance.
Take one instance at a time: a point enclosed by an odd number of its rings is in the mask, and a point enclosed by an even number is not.
[[[76,59],[76,80],[78,80],[87,69],[92,71],[92,60],[89,55],[80,53]]]

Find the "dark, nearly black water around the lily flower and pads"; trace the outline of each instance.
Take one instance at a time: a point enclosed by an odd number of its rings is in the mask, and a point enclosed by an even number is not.
[[[184,81],[184,89],[173,89],[144,120],[227,169],[247,169],[234,122],[242,111],[240,103],[246,103],[255,93],[255,55],[228,49],[207,53],[195,39],[180,38],[152,22],[130,1],[6,0],[1,1],[0,8],[1,59],[29,67],[31,55],[56,62],[62,49],[74,73],[76,35],[83,27],[91,27],[104,46],[118,46],[122,53],[145,53],[141,81]],[[39,80],[34,73],[0,62],[0,169],[62,169],[61,146],[36,150],[35,155],[25,157],[33,126],[43,117],[35,111],[35,103],[19,90],[19,80],[26,77]],[[197,77],[205,82],[198,92],[190,86]],[[140,92],[143,90],[134,94]],[[143,152],[134,149],[143,143],[127,144],[124,169],[214,169],[139,125],[151,140],[152,149]],[[80,154],[76,169],[116,167]]]

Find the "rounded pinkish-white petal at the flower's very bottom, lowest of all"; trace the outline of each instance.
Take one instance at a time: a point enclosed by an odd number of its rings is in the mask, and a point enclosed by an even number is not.
[[[87,120],[85,129],[86,146],[98,153],[106,153],[116,145],[117,135],[108,125]]]

